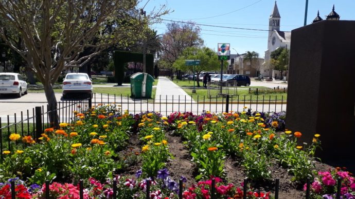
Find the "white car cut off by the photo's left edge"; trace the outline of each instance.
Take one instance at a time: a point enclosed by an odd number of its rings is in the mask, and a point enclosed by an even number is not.
[[[19,73],[0,73],[0,94],[16,94],[21,97],[27,94],[27,83]]]

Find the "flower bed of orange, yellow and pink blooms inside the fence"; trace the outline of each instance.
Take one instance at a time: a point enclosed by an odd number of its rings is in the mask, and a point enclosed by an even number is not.
[[[273,161],[285,168],[295,183],[304,183],[307,177],[316,176],[314,153],[320,145],[320,135],[315,134],[309,145],[298,145],[301,133],[284,128],[284,113],[251,112],[246,107],[240,113],[175,112],[162,117],[154,112],[121,114],[115,104],[99,105],[88,112],[76,112],[70,124],[45,129],[37,141],[30,136],[11,134],[11,150],[4,151],[0,175],[3,182],[14,177],[26,180],[16,180],[19,184],[16,194],[29,194],[28,197],[44,197],[47,180],[52,182],[51,196],[76,198],[77,184],[83,179],[86,198],[110,198],[112,179],[116,179],[118,198],[144,197],[147,181],[152,184],[152,198],[177,198],[179,187],[173,178],[185,178],[174,174],[173,170],[170,170],[173,175],[169,176],[164,169],[176,156],[168,142],[172,134],[179,138],[173,144],[180,142],[181,137],[184,150],[190,155],[185,158],[192,161],[188,169],[195,171],[192,174],[195,179],[188,177],[191,182],[185,184],[190,187],[185,187],[184,198],[208,198],[211,177],[216,180],[218,198],[240,198],[239,183],[228,182],[230,176],[224,167],[228,163],[226,157],[236,160],[235,164],[250,182],[271,182]],[[134,171],[136,179],[131,175],[135,166],[140,168]],[[348,183],[349,194],[352,194],[351,183]],[[0,195],[6,197],[9,184],[0,187]],[[66,191],[52,193],[57,189]],[[247,194],[249,198],[269,198],[270,190],[273,189],[254,191],[249,188]],[[312,196],[333,193],[327,189],[312,192]]]

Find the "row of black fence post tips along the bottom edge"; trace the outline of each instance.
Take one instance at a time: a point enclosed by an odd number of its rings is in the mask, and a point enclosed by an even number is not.
[[[336,198],[341,198],[341,186],[342,186],[342,178],[339,177],[338,179],[338,183],[337,183],[337,188],[336,188]],[[247,178],[244,178],[244,181],[243,181],[243,199],[246,199],[247,198],[247,183],[248,183],[248,179]],[[47,180],[45,182],[45,185],[46,185],[46,189],[45,189],[45,198],[46,199],[49,199],[51,198],[50,197],[50,190],[49,190],[49,181]],[[212,182],[211,182],[211,187],[210,187],[210,192],[211,192],[211,195],[210,195],[210,198],[211,199],[216,199],[217,196],[216,196],[216,183],[215,183],[215,178],[212,178]],[[305,198],[306,199],[309,199],[310,198],[310,185],[311,185],[311,180],[310,178],[307,178],[307,183],[306,183],[306,196]],[[112,198],[116,199],[117,198],[117,194],[119,193],[119,190],[117,190],[117,180],[116,178],[113,178],[113,187],[112,187],[112,190],[113,190],[113,194],[112,194]],[[276,178],[275,179],[275,192],[274,192],[274,198],[275,199],[278,199],[279,198],[279,179]],[[184,192],[184,188],[183,188],[183,181],[182,180],[179,180],[179,192],[178,192],[178,195],[179,195],[179,199],[182,199],[183,198],[183,192]],[[79,197],[80,199],[84,199],[84,186],[83,186],[83,180],[80,180],[79,181]],[[15,182],[14,181],[11,181],[11,198],[15,198],[16,196],[16,192],[15,192]],[[147,181],[147,188],[146,188],[146,199],[150,199],[152,198],[151,197],[151,194],[150,194],[150,181]]]

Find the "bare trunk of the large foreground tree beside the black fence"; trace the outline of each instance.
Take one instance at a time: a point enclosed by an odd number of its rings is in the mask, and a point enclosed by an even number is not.
[[[48,109],[47,111],[50,111],[48,113],[49,117],[49,124],[51,127],[58,127],[59,126],[59,116],[57,112],[57,98],[54,93],[53,87],[51,83],[46,83],[43,84],[44,86],[44,91],[46,94],[47,102],[48,102]]]

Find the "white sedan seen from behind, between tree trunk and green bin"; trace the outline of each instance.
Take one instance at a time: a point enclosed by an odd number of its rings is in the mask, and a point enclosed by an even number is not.
[[[63,79],[63,98],[68,94],[87,94],[92,97],[93,83],[86,73],[68,73]]]

